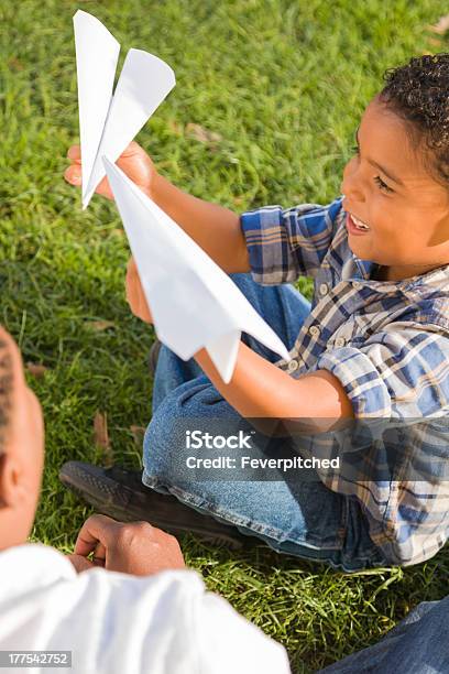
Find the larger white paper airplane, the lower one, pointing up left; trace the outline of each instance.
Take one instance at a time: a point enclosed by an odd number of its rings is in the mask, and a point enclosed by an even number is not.
[[[291,360],[221,268],[112,161],[103,161],[161,341],[183,360],[206,348],[225,383],[242,331]]]

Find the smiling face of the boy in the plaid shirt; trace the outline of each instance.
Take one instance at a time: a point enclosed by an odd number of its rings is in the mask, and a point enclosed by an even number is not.
[[[358,141],[341,185],[352,252],[390,268],[392,281],[449,264],[449,185],[430,175],[405,122],[374,98]]]

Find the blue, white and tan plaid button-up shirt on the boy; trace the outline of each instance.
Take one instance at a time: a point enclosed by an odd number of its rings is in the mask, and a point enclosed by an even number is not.
[[[320,478],[358,499],[391,563],[429,558],[449,537],[449,265],[403,281],[372,279],[377,264],[349,248],[341,198],[325,207],[267,206],[243,214],[241,226],[258,283],[315,281],[293,360],[278,367],[295,378],[328,370],[359,426],[381,426],[363,452],[337,443],[350,469]],[[385,420],[402,426],[401,452],[385,441]]]

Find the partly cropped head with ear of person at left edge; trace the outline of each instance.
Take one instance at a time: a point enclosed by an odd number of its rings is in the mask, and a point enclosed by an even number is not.
[[[37,507],[44,461],[41,405],[26,385],[22,359],[12,338],[0,328],[12,360],[10,423],[0,455],[0,550],[24,543]]]

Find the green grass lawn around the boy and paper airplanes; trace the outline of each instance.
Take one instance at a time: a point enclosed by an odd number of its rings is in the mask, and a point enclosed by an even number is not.
[[[139,140],[184,189],[244,210],[326,202],[339,193],[353,133],[382,73],[425,51],[448,51],[427,25],[443,0],[79,1],[121,41],[175,69],[177,86]],[[152,329],[123,293],[125,239],[96,197],[81,213],[62,180],[77,140],[67,0],[0,0],[0,320],[25,361],[46,420],[46,467],[33,539],[68,551],[89,510],[57,480],[69,458],[101,461],[92,442],[107,412],[113,458],[139,466],[130,430],[150,418]],[[198,123],[218,143],[189,138]],[[303,281],[303,291],[310,284]],[[107,330],[95,320],[113,323]],[[410,569],[354,576],[278,557],[183,542],[207,585],[288,649],[309,672],[376,641],[421,600],[447,594],[448,550]]]

